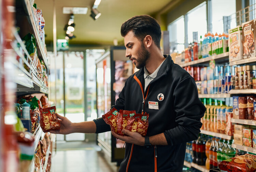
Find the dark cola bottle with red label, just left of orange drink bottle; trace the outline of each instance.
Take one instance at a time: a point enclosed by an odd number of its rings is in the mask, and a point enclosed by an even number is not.
[[[196,158],[196,163],[200,166],[204,165],[205,163],[205,142],[201,134],[199,134],[199,137],[196,141],[196,146],[197,146],[197,158]]]

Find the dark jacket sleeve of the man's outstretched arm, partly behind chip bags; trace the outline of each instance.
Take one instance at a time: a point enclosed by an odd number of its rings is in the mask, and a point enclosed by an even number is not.
[[[122,89],[122,91],[119,94],[119,98],[115,102],[115,105],[113,105],[111,108],[115,108],[118,111],[120,109],[125,109],[125,88],[126,88],[126,82],[125,82],[124,88]],[[94,119],[93,121],[96,124],[96,133],[102,133],[102,132],[111,130],[110,126],[105,123],[105,121],[102,117]]]

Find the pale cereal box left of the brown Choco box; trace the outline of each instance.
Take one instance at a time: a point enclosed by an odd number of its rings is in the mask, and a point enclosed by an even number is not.
[[[229,61],[243,59],[242,27],[237,26],[228,30]]]

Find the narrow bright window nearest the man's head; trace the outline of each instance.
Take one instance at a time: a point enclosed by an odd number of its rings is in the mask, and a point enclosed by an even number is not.
[[[170,51],[181,53],[184,50],[185,26],[184,16],[181,16],[168,26],[170,35]]]

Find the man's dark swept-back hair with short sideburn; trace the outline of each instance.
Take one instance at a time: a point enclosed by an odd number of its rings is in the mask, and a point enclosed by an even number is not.
[[[142,41],[146,35],[151,35],[156,46],[160,49],[161,28],[156,19],[149,15],[134,16],[125,21],[121,26],[121,35],[133,31],[134,36]]]

